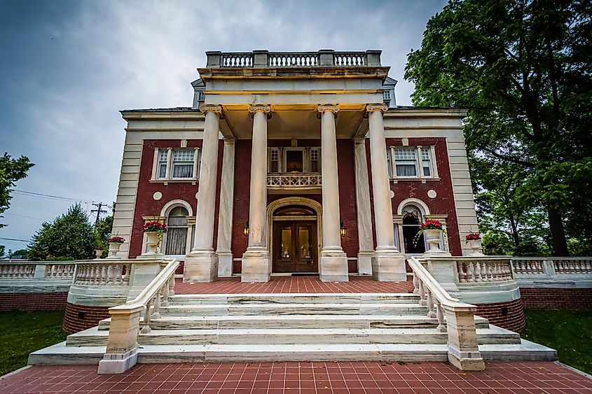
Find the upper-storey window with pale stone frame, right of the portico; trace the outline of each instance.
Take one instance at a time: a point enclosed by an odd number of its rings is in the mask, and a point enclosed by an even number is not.
[[[433,147],[389,146],[387,167],[391,178],[437,178]]]

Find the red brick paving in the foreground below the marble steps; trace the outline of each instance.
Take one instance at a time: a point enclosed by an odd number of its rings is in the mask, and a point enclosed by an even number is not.
[[[487,363],[460,372],[447,363],[142,364],[98,375],[96,365],[35,366],[0,380],[0,393],[592,393],[592,380],[555,363]]]

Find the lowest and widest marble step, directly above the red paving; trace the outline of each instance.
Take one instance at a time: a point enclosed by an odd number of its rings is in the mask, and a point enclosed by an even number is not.
[[[486,360],[556,360],[556,351],[522,340],[520,344],[480,345]],[[61,342],[29,355],[29,365],[97,364],[105,346],[66,346]],[[281,344],[143,345],[138,363],[256,361],[446,361],[446,344]]]

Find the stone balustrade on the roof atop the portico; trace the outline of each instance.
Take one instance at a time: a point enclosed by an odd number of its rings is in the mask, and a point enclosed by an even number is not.
[[[380,67],[380,50],[365,52],[206,52],[207,68]]]

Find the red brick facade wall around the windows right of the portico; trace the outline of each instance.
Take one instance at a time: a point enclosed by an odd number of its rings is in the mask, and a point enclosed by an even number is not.
[[[401,139],[387,139],[387,146],[402,146]],[[368,144],[366,144],[368,145]],[[448,215],[446,219],[446,235],[448,246],[452,255],[462,255],[460,235],[458,233],[458,221],[454,203],[454,192],[452,178],[450,175],[450,164],[448,162],[448,149],[446,139],[443,138],[410,138],[409,146],[434,146],[436,150],[436,165],[440,181],[399,181],[391,183],[391,190],[394,192],[392,199],[392,212],[397,214],[397,208],[404,199],[416,198],[422,200],[430,213],[434,215]],[[368,152],[369,154],[369,152]],[[370,162],[370,160],[368,160]],[[427,191],[436,191],[436,198],[427,197]]]

